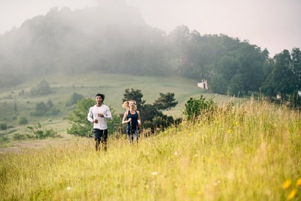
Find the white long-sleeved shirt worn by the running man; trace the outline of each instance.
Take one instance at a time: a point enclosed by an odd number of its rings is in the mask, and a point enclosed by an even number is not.
[[[102,114],[103,117],[98,117],[98,114]],[[104,130],[107,129],[107,120],[112,120],[112,114],[110,108],[104,104],[100,107],[92,106],[88,113],[88,121],[93,122],[94,119],[98,119],[98,123],[93,123],[93,129]]]

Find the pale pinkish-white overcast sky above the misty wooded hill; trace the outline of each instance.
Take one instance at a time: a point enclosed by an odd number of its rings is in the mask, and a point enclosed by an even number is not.
[[[101,0],[116,1],[116,0]],[[122,0],[121,0],[122,1]],[[137,7],[147,25],[167,33],[185,25],[190,31],[247,40],[270,56],[301,48],[300,0],[123,0]],[[0,35],[53,8],[97,6],[97,0],[0,0]]]

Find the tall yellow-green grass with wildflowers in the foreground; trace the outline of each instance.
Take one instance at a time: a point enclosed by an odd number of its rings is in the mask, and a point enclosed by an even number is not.
[[[4,200],[301,199],[300,113],[252,99],[148,138],[2,153]],[[296,194],[295,194],[296,192]]]

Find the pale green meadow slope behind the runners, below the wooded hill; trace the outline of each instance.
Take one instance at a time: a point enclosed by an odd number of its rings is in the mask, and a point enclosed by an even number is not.
[[[45,79],[51,86],[53,93],[43,96],[32,96],[30,89],[36,87],[42,79]],[[9,129],[0,130],[0,135],[9,139],[0,146],[11,146],[12,135],[15,133],[26,133],[27,126],[42,124],[43,128],[55,129],[58,134],[66,137],[67,128],[70,128],[66,117],[72,112],[71,106],[66,106],[71,95],[76,92],[84,95],[85,98],[95,98],[98,92],[106,95],[105,104],[110,105],[116,114],[123,114],[122,97],[126,88],[141,90],[146,103],[152,104],[160,97],[160,93],[173,92],[179,104],[167,115],[181,117],[185,103],[190,97],[198,98],[201,94],[205,97],[215,96],[206,93],[197,87],[197,82],[180,77],[152,77],[152,76],[129,76],[122,74],[103,74],[100,72],[89,72],[73,76],[48,76],[33,79],[21,85],[0,90],[0,124],[5,123]],[[24,94],[20,94],[24,90]],[[230,97],[217,95],[217,100],[229,99]],[[35,109],[38,102],[47,103],[52,100],[54,107],[61,113],[58,116],[32,117],[30,112]],[[17,111],[14,110],[14,105]],[[87,111],[88,112],[88,111]],[[25,116],[29,124],[19,125],[16,121],[19,115]],[[141,114],[143,121],[143,114]]]

